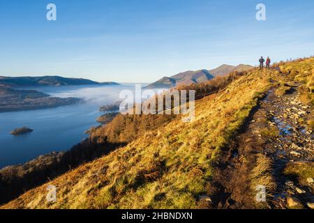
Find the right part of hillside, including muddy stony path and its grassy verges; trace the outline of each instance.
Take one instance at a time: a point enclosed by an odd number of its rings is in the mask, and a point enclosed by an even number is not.
[[[218,208],[313,208],[314,58],[274,68],[273,86],[214,169]]]

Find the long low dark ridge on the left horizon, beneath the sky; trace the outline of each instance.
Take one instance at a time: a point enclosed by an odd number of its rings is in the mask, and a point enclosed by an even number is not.
[[[65,86],[84,84],[106,84],[118,85],[115,82],[94,82],[90,79],[66,78],[59,76],[43,77],[3,77],[0,76],[0,87],[21,87],[21,86]]]

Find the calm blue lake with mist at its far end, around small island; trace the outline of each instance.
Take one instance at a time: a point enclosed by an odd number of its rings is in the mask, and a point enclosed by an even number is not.
[[[96,122],[103,114],[99,107],[121,100],[119,93],[124,89],[134,92],[135,84],[37,88],[52,96],[82,98],[84,102],[53,109],[0,113],[0,168],[22,164],[52,151],[70,149],[88,137],[85,130],[100,125]],[[34,131],[20,136],[9,134],[22,126]]]

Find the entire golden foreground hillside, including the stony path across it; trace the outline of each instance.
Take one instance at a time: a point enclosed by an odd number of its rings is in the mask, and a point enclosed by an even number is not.
[[[304,207],[313,196],[313,60],[218,77],[216,83],[232,81],[197,100],[190,123],[177,116],[147,128],[126,146],[1,208]],[[300,128],[286,131],[290,121]],[[46,201],[48,185],[57,187],[57,202]],[[264,185],[267,202],[256,201],[257,185]],[[287,192],[286,199],[274,199]]]

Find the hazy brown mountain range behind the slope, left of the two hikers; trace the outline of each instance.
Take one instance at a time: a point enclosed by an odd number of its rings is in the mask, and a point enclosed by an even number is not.
[[[220,66],[213,70],[197,70],[197,71],[189,70],[186,72],[181,72],[172,77],[163,77],[162,79],[159,79],[157,82],[149,84],[148,86],[145,87],[145,89],[169,89],[171,87],[178,86],[181,84],[184,85],[197,84],[207,82],[210,79],[213,79],[214,77],[217,76],[227,75],[232,71],[241,72],[244,70],[250,70],[251,68],[253,67],[244,64],[240,64],[238,66],[230,66],[224,64],[223,66]]]

